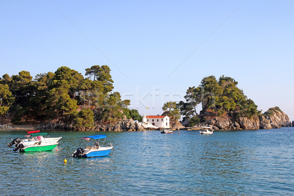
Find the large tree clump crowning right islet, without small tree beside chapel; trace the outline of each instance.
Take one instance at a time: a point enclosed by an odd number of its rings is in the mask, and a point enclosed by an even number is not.
[[[230,111],[234,111],[237,117],[251,117],[257,114],[257,105],[251,99],[247,99],[237,84],[234,78],[224,75],[219,81],[214,75],[204,77],[197,88],[188,88],[185,96],[187,102],[180,101],[177,108],[185,117],[197,116],[196,105],[199,103],[202,104],[202,111],[213,111],[218,116]]]

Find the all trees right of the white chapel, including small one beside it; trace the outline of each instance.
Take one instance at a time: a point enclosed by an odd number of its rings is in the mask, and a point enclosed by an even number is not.
[[[168,116],[179,111],[179,114],[188,118],[190,126],[205,122],[210,117],[220,117],[227,114],[234,118],[251,118],[261,111],[257,110],[257,105],[253,100],[244,95],[243,90],[237,87],[238,82],[222,75],[219,80],[214,75],[204,77],[200,84],[189,87],[186,92],[186,101],[167,102],[163,110]],[[196,107],[201,104],[202,110],[198,114]],[[173,112],[173,113],[172,113]]]

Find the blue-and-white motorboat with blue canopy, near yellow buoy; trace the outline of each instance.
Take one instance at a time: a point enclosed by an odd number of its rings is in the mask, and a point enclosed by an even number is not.
[[[100,145],[100,139],[104,139],[102,145]],[[97,157],[97,156],[106,156],[110,153],[113,148],[112,143],[108,144],[106,147],[103,147],[106,140],[106,135],[94,135],[81,138],[81,142],[86,144],[85,148],[79,147],[73,152],[73,157]]]

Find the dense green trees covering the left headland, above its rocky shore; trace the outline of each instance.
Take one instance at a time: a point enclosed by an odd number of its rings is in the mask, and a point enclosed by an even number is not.
[[[57,119],[75,126],[93,123],[141,120],[130,110],[130,100],[112,92],[113,80],[107,65],[94,65],[81,73],[60,67],[54,73],[33,77],[27,71],[0,77],[0,115],[15,124],[42,123]]]

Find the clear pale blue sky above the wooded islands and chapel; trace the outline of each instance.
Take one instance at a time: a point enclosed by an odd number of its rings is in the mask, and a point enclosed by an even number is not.
[[[130,109],[161,115],[225,75],[259,110],[294,121],[293,10],[293,0],[0,0],[0,76],[108,65]]]

